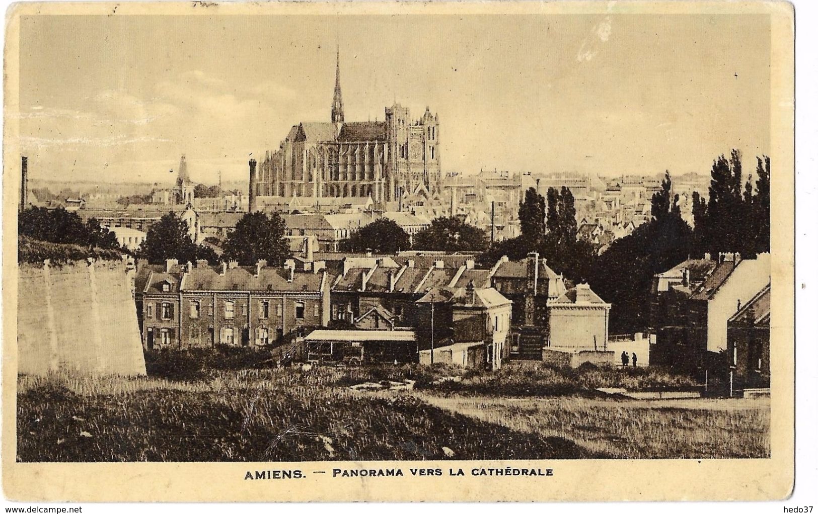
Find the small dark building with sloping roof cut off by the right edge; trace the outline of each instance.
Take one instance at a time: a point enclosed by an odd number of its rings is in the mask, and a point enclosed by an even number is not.
[[[770,387],[770,284],[727,320],[735,387]]]

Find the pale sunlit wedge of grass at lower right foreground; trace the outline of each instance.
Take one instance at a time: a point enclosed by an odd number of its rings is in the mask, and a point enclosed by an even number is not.
[[[768,458],[770,401],[422,395],[441,409],[611,458]]]

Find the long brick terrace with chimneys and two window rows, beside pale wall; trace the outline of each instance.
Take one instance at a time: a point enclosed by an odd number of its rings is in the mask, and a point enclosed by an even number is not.
[[[142,289],[142,343],[148,348],[257,346],[279,342],[299,329],[329,322],[326,270],[206,261],[151,270]]]

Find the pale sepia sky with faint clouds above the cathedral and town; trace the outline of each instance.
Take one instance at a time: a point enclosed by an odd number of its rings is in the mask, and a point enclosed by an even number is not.
[[[707,172],[770,145],[766,16],[32,16],[20,27],[32,178],[247,176],[249,154],[398,101],[441,123],[443,170]],[[754,159],[753,159],[754,161]]]

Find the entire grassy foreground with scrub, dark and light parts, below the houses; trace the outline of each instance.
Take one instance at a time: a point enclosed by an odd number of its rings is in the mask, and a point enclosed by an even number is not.
[[[211,352],[212,353],[212,352]],[[497,373],[436,364],[267,369],[259,352],[146,355],[151,378],[18,380],[18,459],[303,461],[717,458],[770,453],[767,400],[622,400],[679,389],[655,369]],[[456,378],[453,381],[452,378]],[[414,391],[351,391],[362,382]]]

